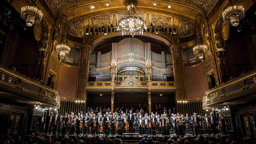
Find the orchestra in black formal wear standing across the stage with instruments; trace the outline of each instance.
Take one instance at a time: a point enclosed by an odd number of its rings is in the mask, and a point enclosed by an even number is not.
[[[97,116],[96,116],[97,115]],[[170,117],[168,117],[170,116]],[[46,134],[104,134],[104,135],[124,135],[124,134],[138,134],[138,135],[216,135],[227,134],[227,121],[224,115],[218,121],[213,113],[205,114],[201,119],[200,115],[194,113],[191,117],[188,114],[159,114],[151,113],[151,115],[140,112],[132,113],[130,110],[127,113],[110,112],[97,114],[93,112],[78,113],[74,115],[73,112],[68,115],[59,115],[58,111],[50,116],[44,117],[42,115],[37,120],[38,130],[44,131]],[[219,125],[219,128],[217,127]],[[120,134],[121,133],[121,134]]]

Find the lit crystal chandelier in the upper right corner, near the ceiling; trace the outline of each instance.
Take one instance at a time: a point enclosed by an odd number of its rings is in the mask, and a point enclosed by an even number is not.
[[[238,26],[239,20],[244,17],[245,9],[242,6],[232,6],[230,1],[228,8],[222,12],[223,21],[232,24],[232,26]]]

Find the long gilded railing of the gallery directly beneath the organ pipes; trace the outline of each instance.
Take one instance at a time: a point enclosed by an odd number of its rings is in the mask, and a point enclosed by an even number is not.
[[[127,85],[124,81],[118,81],[118,82],[87,82],[86,87],[88,88],[99,88],[99,87],[108,87],[111,88],[112,85],[114,87],[149,87],[151,85],[151,88],[175,88],[176,84],[175,82],[145,82],[145,81],[138,81],[138,85]]]

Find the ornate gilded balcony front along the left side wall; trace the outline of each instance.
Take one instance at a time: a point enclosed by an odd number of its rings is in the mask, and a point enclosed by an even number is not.
[[[17,101],[32,104],[37,102],[45,107],[59,107],[57,91],[3,65],[0,65],[0,90],[6,94],[1,97],[9,98],[11,95]]]

